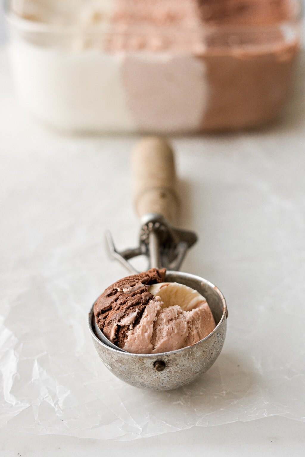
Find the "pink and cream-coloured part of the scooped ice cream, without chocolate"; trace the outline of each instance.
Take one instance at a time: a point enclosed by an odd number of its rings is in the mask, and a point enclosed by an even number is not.
[[[191,346],[215,328],[206,299],[178,282],[153,284],[154,298],[139,323],[128,330],[123,349],[136,353],[162,353]]]

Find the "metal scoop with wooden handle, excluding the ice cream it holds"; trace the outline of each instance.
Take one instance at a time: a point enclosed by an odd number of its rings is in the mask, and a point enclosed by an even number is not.
[[[112,257],[120,261],[130,274],[137,271],[129,260],[138,255],[148,257],[150,268],[166,268],[166,282],[184,284],[206,298],[216,327],[191,346],[160,354],[133,354],[114,345],[96,325],[94,305],[89,314],[89,330],[98,355],[115,376],[135,387],[170,390],[191,383],[213,365],[225,341],[227,305],[214,284],[178,271],[197,236],[192,231],[174,228],[169,222],[177,218],[179,207],[170,146],[159,138],[144,138],[134,149],[132,169],[135,206],[141,216],[139,246],[119,252],[111,235],[107,234]]]

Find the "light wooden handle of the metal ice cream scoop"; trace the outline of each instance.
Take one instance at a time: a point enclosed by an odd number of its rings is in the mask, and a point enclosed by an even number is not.
[[[141,139],[132,152],[131,168],[138,216],[157,213],[176,223],[179,205],[175,159],[170,145],[157,137]]]

